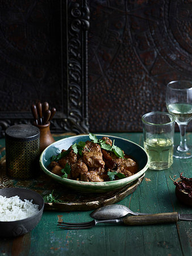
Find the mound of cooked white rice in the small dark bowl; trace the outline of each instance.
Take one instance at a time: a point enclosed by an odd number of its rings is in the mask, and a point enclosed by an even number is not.
[[[19,196],[0,196],[0,221],[23,220],[36,214],[39,212],[39,205],[33,204],[32,201],[22,201]]]

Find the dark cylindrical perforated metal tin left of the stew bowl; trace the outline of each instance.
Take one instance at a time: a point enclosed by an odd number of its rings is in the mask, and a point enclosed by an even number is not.
[[[32,125],[14,125],[5,131],[7,175],[19,180],[39,172],[40,130]]]

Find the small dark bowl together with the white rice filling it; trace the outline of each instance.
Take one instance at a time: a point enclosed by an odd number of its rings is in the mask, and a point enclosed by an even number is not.
[[[44,200],[26,188],[0,189],[0,237],[17,237],[30,232],[39,223]]]

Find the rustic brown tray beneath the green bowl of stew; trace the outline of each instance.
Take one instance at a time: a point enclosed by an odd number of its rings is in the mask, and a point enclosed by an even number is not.
[[[133,181],[126,187],[107,193],[80,193],[65,188],[60,183],[53,181],[51,177],[41,172],[37,179],[13,180],[6,175],[5,156],[0,160],[0,188],[28,188],[41,196],[49,195],[53,192],[56,199],[64,203],[45,203],[44,210],[59,210],[70,212],[74,210],[93,210],[104,205],[114,204],[133,193],[143,181],[144,175]]]

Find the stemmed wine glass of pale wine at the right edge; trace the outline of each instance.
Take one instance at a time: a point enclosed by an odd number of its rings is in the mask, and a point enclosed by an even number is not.
[[[166,108],[176,117],[180,128],[180,145],[174,146],[175,158],[191,158],[192,148],[187,145],[186,126],[192,119],[192,82],[171,81],[166,86]]]

